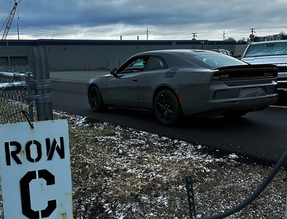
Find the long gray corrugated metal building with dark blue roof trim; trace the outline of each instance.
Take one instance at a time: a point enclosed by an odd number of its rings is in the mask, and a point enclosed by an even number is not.
[[[208,40],[0,40],[0,65],[33,65],[32,47],[47,48],[50,71],[111,69],[136,53],[158,49],[228,49],[235,41]]]

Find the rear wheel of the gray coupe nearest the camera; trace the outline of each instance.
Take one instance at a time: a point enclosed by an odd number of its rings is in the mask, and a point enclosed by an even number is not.
[[[174,125],[179,119],[180,109],[179,101],[172,91],[162,90],[156,95],[154,114],[160,124]]]

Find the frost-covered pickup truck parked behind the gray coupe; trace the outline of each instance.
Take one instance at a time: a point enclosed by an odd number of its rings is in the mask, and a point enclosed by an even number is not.
[[[277,65],[278,90],[287,91],[287,40],[250,43],[241,60],[249,64]]]

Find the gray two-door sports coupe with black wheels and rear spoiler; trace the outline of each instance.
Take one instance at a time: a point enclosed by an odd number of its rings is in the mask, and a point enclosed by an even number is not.
[[[278,99],[275,65],[249,65],[205,50],[138,53],[110,75],[88,81],[93,111],[108,106],[153,110],[163,125],[181,115],[240,117]]]

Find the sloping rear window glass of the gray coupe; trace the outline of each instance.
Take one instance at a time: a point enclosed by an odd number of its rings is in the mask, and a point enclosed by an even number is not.
[[[230,65],[248,65],[247,63],[221,54],[194,55],[194,53],[184,53],[181,55],[189,61],[196,63],[204,68],[219,68]]]

